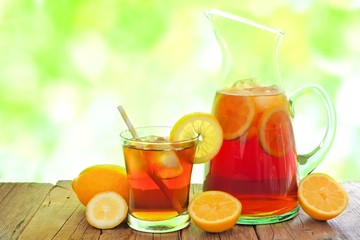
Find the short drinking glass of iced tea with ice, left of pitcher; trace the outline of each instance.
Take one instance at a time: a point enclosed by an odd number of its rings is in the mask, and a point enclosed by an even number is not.
[[[128,225],[138,231],[180,230],[189,222],[190,178],[197,138],[170,142],[171,127],[120,134],[130,185]]]

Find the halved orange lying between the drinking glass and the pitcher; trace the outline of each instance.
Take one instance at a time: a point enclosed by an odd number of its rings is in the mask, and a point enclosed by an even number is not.
[[[196,195],[188,212],[193,222],[207,232],[223,232],[232,228],[241,214],[240,201],[229,193],[206,191]]]

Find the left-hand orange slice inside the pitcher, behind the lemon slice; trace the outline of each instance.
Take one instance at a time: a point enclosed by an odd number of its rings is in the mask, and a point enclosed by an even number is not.
[[[219,120],[224,139],[240,137],[250,127],[255,116],[255,104],[249,96],[217,93],[213,114]]]

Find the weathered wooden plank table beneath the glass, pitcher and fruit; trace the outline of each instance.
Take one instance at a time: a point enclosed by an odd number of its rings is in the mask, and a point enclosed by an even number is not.
[[[111,230],[98,230],[85,219],[84,206],[70,181],[47,183],[0,183],[0,239],[360,239],[360,182],[345,182],[349,206],[327,222],[304,212],[292,220],[269,225],[241,226],[220,233],[206,233],[193,223],[182,231],[147,234],[126,223]],[[193,185],[191,195],[200,191]]]

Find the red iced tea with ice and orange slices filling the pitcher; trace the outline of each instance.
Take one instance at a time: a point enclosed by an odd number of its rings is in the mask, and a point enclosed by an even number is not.
[[[213,114],[224,141],[211,160],[204,190],[237,197],[242,216],[268,217],[295,209],[297,155],[289,102],[276,87],[224,89]]]

